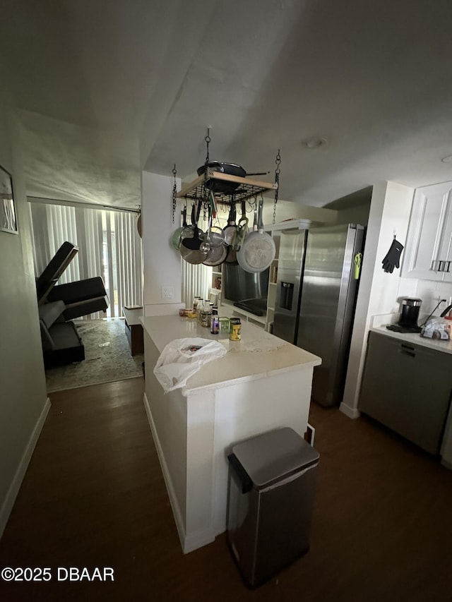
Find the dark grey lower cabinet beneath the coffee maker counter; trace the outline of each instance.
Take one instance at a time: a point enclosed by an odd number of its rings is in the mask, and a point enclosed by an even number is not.
[[[451,403],[452,356],[369,332],[359,410],[439,454]]]

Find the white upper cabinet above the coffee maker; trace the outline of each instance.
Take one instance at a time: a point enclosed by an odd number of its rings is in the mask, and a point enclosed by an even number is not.
[[[452,182],[416,189],[401,275],[452,282]]]

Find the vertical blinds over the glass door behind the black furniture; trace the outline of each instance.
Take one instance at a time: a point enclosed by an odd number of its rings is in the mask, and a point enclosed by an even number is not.
[[[35,273],[40,275],[64,241],[78,253],[59,284],[100,276],[109,297],[107,317],[120,316],[124,305],[143,304],[141,239],[136,214],[124,211],[30,203]],[[91,318],[104,318],[102,312]]]

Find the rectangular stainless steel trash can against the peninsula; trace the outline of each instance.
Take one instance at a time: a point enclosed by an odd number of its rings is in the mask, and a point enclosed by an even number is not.
[[[292,428],[232,447],[227,542],[255,587],[309,549],[319,452]]]

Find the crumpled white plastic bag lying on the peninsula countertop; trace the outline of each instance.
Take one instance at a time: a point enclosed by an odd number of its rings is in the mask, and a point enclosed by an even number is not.
[[[154,374],[165,393],[184,387],[205,363],[219,359],[226,348],[210,339],[175,339],[167,344],[155,364]]]

